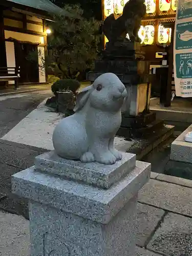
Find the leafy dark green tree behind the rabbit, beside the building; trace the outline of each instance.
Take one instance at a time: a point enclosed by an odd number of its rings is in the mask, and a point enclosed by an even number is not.
[[[49,67],[61,79],[74,79],[81,72],[94,68],[100,41],[100,22],[84,18],[83,10],[78,5],[66,5],[64,9],[71,16],[54,16],[54,22],[49,24],[53,31],[48,42]]]

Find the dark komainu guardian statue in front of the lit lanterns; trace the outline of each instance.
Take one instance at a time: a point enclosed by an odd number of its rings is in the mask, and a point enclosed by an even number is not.
[[[122,15],[115,19],[114,14],[106,17],[102,31],[110,42],[123,40],[129,34],[131,41],[139,41],[138,31],[141,19],[146,13],[144,0],[130,0],[123,8]]]

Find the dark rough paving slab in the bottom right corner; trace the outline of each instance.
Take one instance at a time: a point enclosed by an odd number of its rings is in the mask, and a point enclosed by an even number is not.
[[[165,256],[191,256],[191,233],[191,218],[169,212],[155,232],[153,239],[147,245],[147,248]]]

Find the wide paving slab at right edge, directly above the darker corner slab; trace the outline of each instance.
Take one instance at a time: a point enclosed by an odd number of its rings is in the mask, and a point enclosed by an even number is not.
[[[151,179],[140,191],[141,203],[192,217],[192,188]]]

